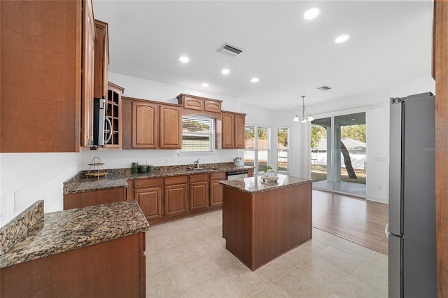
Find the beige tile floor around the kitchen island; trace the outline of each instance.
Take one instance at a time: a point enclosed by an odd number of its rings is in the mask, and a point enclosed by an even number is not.
[[[387,297],[387,256],[364,246],[313,228],[313,239],[251,271],[221,232],[221,211],[151,226],[146,297]]]

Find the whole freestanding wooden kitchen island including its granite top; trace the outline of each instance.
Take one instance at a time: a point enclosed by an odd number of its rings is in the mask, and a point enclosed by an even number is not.
[[[221,181],[226,248],[255,270],[311,239],[311,180]]]

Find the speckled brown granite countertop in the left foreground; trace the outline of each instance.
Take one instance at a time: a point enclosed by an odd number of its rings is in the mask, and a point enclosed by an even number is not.
[[[134,200],[38,216],[27,232],[0,256],[0,268],[139,234],[149,228]],[[8,223],[9,227],[14,225],[14,220]]]

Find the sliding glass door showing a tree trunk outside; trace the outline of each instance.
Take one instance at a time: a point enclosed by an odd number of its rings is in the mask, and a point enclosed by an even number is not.
[[[311,178],[318,190],[365,197],[365,113],[311,122]]]

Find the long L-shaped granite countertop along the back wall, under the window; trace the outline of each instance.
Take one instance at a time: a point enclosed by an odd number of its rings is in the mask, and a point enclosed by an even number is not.
[[[85,171],[80,171],[64,182],[64,194],[128,187],[127,180],[253,169],[253,166],[235,166],[233,162],[201,164],[201,169],[199,170],[190,170],[188,169],[188,166],[189,165],[155,166],[152,173],[131,173],[131,169],[106,169],[107,176],[99,179],[86,178],[84,175]]]

